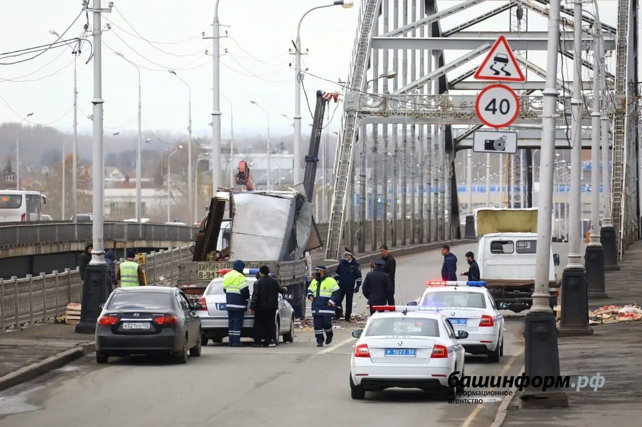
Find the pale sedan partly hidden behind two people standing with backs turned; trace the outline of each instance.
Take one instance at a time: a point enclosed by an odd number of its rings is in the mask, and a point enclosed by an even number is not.
[[[251,296],[256,277],[246,276],[245,278],[250,287]],[[223,338],[227,337],[228,323],[225,301],[223,278],[218,277],[209,282],[203,297],[198,300],[202,308],[196,310],[196,313],[201,321],[202,344],[204,346],[207,345],[208,340],[222,342]],[[281,294],[279,294],[279,309],[274,321],[276,326],[274,341],[278,344],[279,337],[282,336],[283,342],[294,342],[294,309]],[[254,337],[254,315],[250,314],[249,308],[243,319],[241,338],[243,337]]]

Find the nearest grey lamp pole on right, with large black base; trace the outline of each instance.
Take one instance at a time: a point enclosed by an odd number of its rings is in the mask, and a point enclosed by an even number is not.
[[[542,148],[540,156],[539,213],[537,215],[537,247],[551,245],[551,204],[553,201],[553,161],[555,160],[555,122],[557,121],[557,50],[559,44],[561,0],[551,0],[548,15],[548,60],[546,61],[546,89],[542,112]],[[576,21],[578,22],[578,21]],[[560,374],[559,348],[555,314],[549,306],[548,277],[550,251],[535,254],[535,287],[533,306],[525,319],[525,374],[530,378]],[[524,408],[568,406],[568,396],[559,388],[541,392],[527,388],[521,396]]]

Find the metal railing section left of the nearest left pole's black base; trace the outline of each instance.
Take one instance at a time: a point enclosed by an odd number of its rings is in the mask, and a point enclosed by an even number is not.
[[[64,314],[67,304],[80,303],[81,299],[78,270],[0,281],[0,333],[12,326],[49,321]]]

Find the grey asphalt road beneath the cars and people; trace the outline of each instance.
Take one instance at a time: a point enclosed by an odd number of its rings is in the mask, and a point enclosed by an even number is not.
[[[474,244],[453,247],[464,253]],[[421,295],[438,278],[438,251],[397,259],[399,303]],[[365,310],[363,298],[356,310]],[[466,358],[468,375],[516,375],[523,365],[523,321],[505,326],[505,353],[498,364]],[[488,426],[501,398],[482,404],[449,404],[420,390],[391,389],[353,401],[349,355],[354,339],[336,330],[318,348],[311,332],[271,349],[207,346],[187,365],[146,358],[86,357],[73,365],[0,393],[0,427],[13,426]]]

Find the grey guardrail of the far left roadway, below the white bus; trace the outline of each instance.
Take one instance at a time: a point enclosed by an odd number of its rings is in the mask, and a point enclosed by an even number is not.
[[[15,224],[15,223],[14,223]],[[169,240],[190,242],[196,227],[146,222],[105,222],[105,240]],[[0,225],[0,247],[32,246],[59,242],[91,242],[92,223],[54,222]]]

